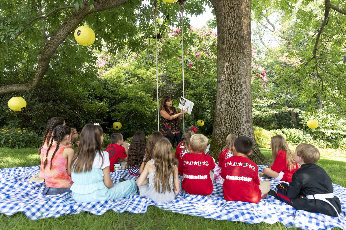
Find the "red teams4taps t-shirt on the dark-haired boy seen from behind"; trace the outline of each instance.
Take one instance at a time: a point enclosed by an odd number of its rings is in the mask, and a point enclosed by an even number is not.
[[[258,167],[255,162],[242,156],[233,156],[224,161],[221,177],[225,179],[224,199],[258,203],[261,200]]]

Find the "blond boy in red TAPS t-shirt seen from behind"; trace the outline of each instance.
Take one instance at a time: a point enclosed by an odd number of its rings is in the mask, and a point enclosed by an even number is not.
[[[194,134],[190,138],[191,153],[182,158],[184,179],[182,188],[189,194],[208,196],[213,191],[213,172],[215,162],[208,154],[203,154],[207,148],[208,138],[202,134]]]

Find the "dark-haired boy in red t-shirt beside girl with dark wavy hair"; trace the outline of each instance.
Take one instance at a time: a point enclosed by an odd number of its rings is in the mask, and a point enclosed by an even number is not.
[[[105,149],[109,154],[109,171],[114,172],[114,164],[118,163],[119,158],[127,161],[127,143],[120,132],[115,132],[110,136],[111,144]],[[124,147],[125,145],[125,147]]]

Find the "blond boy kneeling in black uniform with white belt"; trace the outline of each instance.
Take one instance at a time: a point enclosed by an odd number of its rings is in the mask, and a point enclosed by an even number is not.
[[[295,209],[338,217],[341,212],[340,200],[333,194],[333,184],[326,171],[315,164],[319,158],[320,152],[315,146],[299,144],[294,160],[301,164],[300,169],[293,173],[290,185],[280,183],[276,186],[277,194],[274,190],[268,194]]]

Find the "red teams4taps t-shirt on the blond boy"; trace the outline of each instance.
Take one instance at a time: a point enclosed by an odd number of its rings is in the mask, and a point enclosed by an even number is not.
[[[181,187],[189,194],[210,195],[213,191],[210,170],[215,168],[213,159],[209,155],[189,153],[184,154],[182,162],[184,180]]]

